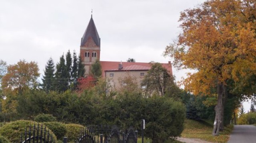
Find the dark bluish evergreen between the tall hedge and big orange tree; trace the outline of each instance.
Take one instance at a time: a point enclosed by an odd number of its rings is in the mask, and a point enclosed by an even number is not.
[[[197,115],[197,109],[195,105],[195,98],[191,97],[188,103],[186,104],[186,118],[187,119],[193,119],[193,120],[199,120],[200,117]]]

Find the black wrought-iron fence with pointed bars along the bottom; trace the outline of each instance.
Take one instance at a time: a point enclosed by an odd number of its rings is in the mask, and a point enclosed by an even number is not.
[[[84,128],[76,143],[137,143],[138,131],[130,128],[121,131],[117,126],[88,126]],[[43,128],[43,124],[29,127],[21,134],[20,143],[55,143],[50,131]],[[64,137],[63,143],[68,143],[68,138]]]

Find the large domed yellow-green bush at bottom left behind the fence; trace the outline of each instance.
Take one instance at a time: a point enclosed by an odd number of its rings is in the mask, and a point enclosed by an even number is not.
[[[26,128],[29,128],[30,125],[34,125],[33,121],[26,121],[26,120],[18,120],[10,123],[6,123],[0,128],[0,135],[6,137],[10,142],[12,143],[18,143],[20,142],[20,135],[24,134],[24,131]],[[43,125],[43,128],[45,125]],[[48,127],[46,127],[46,130],[48,131]],[[50,134],[52,135],[53,139],[57,141],[56,136],[54,133],[50,131]]]

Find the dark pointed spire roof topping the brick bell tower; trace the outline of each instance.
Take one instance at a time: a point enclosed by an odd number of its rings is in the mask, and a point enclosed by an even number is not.
[[[98,31],[97,31],[94,21],[92,19],[92,15],[91,15],[90,22],[89,22],[89,24],[84,32],[84,35],[81,39],[81,46],[84,46],[84,44],[86,43],[86,41],[88,40],[89,37],[92,37],[94,43],[100,47],[100,36],[98,35]]]

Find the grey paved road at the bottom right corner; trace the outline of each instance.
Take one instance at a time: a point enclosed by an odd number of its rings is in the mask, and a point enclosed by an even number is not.
[[[254,125],[235,125],[228,143],[256,143]]]

